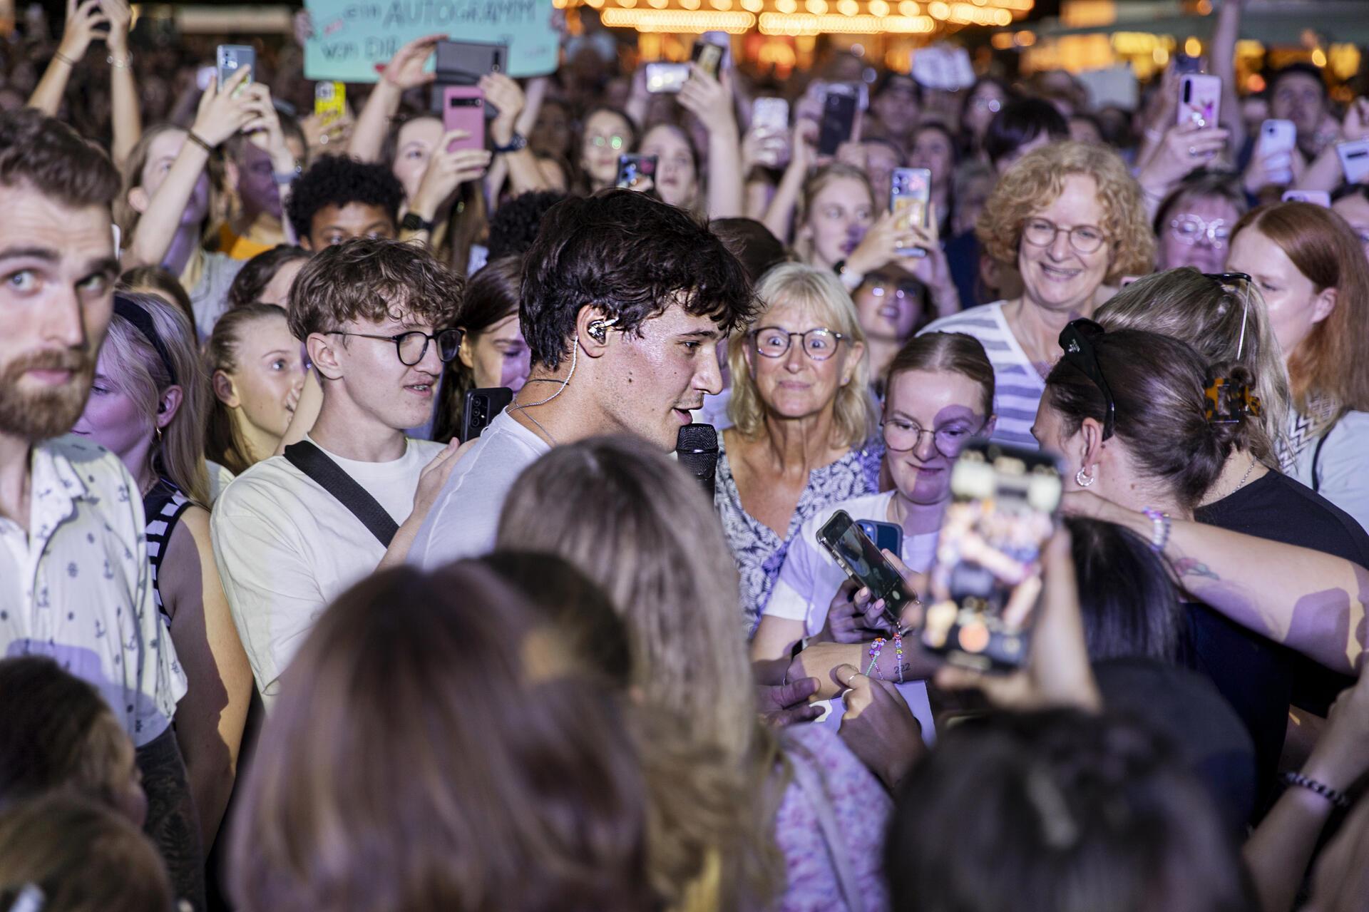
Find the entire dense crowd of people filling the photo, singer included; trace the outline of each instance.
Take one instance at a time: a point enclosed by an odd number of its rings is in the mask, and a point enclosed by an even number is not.
[[[1369,909],[1369,100],[1238,96],[1240,10],[1218,122],[1173,67],[1135,111],[849,52],[658,93],[586,11],[479,79],[485,148],[445,36],[327,118],[297,44],[218,85],[125,0],[30,16],[0,909]],[[972,442],[1062,489],[977,552],[1010,668],[917,633]]]

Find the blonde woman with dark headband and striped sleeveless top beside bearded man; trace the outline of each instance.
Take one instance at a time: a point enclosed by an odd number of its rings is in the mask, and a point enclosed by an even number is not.
[[[153,601],[188,679],[175,734],[205,846],[233,791],[252,687],[209,544],[208,396],[190,320],[153,294],[115,294],[90,398],[73,431],[111,449],[138,483]]]

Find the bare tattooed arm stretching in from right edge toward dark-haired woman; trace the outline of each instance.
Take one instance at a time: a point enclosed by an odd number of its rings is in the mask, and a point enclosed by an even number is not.
[[[1143,514],[1088,492],[1065,494],[1065,509],[1150,538]],[[1342,674],[1357,674],[1365,650],[1369,570],[1310,548],[1175,519],[1164,555],[1195,598],[1275,642]]]

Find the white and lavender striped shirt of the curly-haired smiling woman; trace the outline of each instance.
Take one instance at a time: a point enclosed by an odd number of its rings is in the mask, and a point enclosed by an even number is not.
[[[923,333],[964,333],[979,340],[994,366],[994,414],[998,423],[993,440],[1038,449],[1031,426],[1036,422],[1036,407],[1046,392],[1046,381],[1009,329],[1003,301],[932,320]]]

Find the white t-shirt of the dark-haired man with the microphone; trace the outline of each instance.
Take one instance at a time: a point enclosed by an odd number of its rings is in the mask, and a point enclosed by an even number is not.
[[[409,548],[409,563],[434,568],[494,550],[504,498],[523,470],[552,446],[500,412],[452,470]]]

